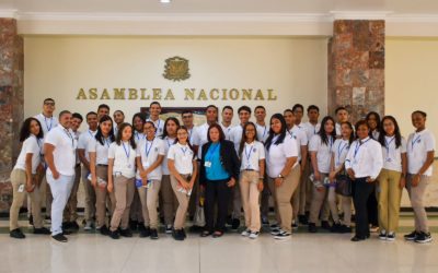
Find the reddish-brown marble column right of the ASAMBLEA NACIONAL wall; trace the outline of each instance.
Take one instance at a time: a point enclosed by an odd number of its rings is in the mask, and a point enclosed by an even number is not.
[[[384,112],[384,21],[336,20],[328,41],[328,114]]]

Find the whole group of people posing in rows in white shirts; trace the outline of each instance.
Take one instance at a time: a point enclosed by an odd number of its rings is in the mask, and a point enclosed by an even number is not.
[[[20,132],[22,149],[11,173],[13,202],[10,236],[25,238],[19,212],[27,209],[34,234],[51,234],[66,242],[77,230],[77,192],[84,187],[84,229],[95,228],[113,239],[186,238],[187,214],[201,237],[221,237],[241,226],[242,236],[255,239],[262,225],[275,239],[291,237],[299,225],[351,233],[351,241],[379,232],[395,240],[402,191],[407,189],[415,230],[406,240],[429,242],[431,236],[423,204],[433,174],[434,134],[426,129],[426,112],[412,114],[415,131],[405,140],[392,116],[369,112],[355,127],[345,107],[319,122],[320,109],[300,104],[266,122],[263,106],[238,109],[206,107],[206,122],[194,124],[194,114],[160,119],[161,105],[152,102],[149,117],[136,114],[125,122],[122,110],[110,107],[85,116],[88,129],[79,132],[80,114],[54,116],[55,100],[46,98],[43,112],[27,118]],[[254,115],[255,122],[250,121]],[[342,192],[341,192],[341,189]],[[51,228],[44,227],[42,197]],[[274,223],[269,223],[269,203]],[[194,228],[195,229],[195,228]]]

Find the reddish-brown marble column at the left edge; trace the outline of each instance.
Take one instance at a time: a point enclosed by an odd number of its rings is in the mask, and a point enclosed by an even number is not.
[[[0,19],[0,214],[12,202],[10,173],[20,152],[23,121],[23,38],[14,19]]]

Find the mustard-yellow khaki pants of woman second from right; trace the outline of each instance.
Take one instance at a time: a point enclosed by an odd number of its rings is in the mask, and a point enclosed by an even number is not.
[[[400,178],[402,173],[382,169],[379,175],[379,226],[381,230],[395,233],[399,227],[400,202],[402,189]]]

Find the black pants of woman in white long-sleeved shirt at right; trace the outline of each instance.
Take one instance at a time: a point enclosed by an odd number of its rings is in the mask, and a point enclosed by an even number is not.
[[[353,182],[353,202],[356,210],[356,236],[369,236],[368,199],[372,194],[374,183],[367,182],[367,178],[356,178]]]

